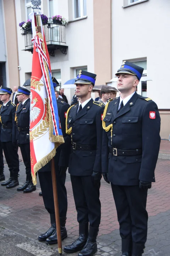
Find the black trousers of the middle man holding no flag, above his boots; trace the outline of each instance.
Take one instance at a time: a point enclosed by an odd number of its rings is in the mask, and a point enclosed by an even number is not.
[[[91,176],[71,175],[73,196],[79,223],[98,228],[101,219],[100,182],[94,185]]]

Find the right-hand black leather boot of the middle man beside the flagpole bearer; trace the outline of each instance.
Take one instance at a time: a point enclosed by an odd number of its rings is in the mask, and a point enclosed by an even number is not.
[[[79,252],[78,256],[92,256],[97,251],[97,243],[93,241],[90,237],[87,239],[87,242],[83,249]]]

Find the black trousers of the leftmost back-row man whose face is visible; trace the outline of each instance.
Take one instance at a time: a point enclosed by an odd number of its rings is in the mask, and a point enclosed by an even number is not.
[[[19,157],[18,146],[13,145],[12,142],[1,142],[4,150],[5,159],[9,167],[9,171],[12,174],[18,174],[19,172]]]

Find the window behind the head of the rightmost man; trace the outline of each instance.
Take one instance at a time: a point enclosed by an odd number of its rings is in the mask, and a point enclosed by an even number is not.
[[[141,68],[144,68],[141,80],[145,80],[145,76],[147,76],[147,60],[132,63],[137,66],[141,66]],[[137,86],[137,93],[144,97],[147,97],[147,81],[140,81]]]

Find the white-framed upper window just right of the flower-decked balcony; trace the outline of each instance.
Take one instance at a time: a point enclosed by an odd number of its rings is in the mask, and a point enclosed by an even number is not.
[[[73,0],[73,17],[81,18],[86,16],[86,0]]]

